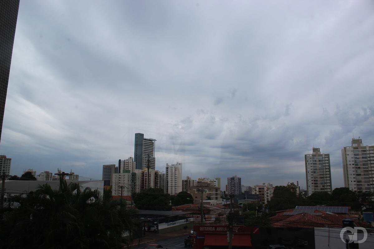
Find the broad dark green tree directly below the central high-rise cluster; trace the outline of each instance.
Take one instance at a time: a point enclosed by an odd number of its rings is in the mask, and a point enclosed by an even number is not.
[[[132,197],[138,209],[171,210],[171,205],[169,205],[171,200],[170,194],[165,194],[163,189],[150,188],[140,193],[134,193]]]

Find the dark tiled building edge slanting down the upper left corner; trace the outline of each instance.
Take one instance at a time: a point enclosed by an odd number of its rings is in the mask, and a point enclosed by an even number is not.
[[[0,139],[3,128],[10,62],[18,17],[19,0],[0,1]]]

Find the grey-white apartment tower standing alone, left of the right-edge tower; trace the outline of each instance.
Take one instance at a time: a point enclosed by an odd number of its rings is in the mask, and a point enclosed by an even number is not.
[[[332,192],[330,154],[323,154],[313,147],[312,154],[306,154],[305,174],[307,195],[314,192]]]

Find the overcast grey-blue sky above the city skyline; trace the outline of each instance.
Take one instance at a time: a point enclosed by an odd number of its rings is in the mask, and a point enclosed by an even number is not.
[[[306,188],[304,154],[374,144],[373,1],[21,1],[0,153],[100,178],[156,142],[183,178]]]

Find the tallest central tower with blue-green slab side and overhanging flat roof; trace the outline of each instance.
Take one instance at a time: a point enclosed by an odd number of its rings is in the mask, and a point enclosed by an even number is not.
[[[156,139],[145,138],[142,133],[135,133],[134,161],[137,169],[147,169],[148,155],[150,169],[156,169],[156,158],[154,157],[154,144]]]

